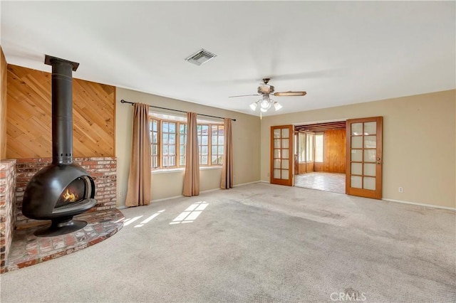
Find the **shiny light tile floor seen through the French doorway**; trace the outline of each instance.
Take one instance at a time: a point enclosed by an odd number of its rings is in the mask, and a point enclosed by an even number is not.
[[[310,172],[294,176],[294,186],[345,193],[345,174]]]

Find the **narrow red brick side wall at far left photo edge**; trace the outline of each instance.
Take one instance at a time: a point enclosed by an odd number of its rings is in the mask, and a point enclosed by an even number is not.
[[[14,188],[16,160],[0,161],[0,273],[5,272],[6,256],[14,231]]]

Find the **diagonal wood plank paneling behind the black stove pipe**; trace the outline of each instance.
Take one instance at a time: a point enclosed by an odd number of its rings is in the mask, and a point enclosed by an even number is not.
[[[6,156],[52,156],[51,73],[7,70]],[[73,78],[73,156],[115,156],[115,87]]]

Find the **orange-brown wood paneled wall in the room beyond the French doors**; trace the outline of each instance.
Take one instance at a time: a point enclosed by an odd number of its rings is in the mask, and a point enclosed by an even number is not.
[[[345,174],[346,130],[327,130],[323,139],[323,163],[315,163],[315,171]]]

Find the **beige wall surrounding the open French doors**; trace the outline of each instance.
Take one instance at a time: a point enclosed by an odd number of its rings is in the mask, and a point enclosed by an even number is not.
[[[383,198],[455,208],[455,104],[448,90],[264,117],[261,180],[269,181],[272,125],[383,116]]]

